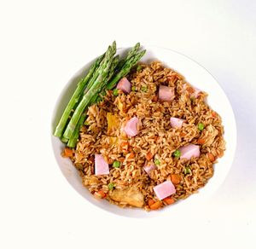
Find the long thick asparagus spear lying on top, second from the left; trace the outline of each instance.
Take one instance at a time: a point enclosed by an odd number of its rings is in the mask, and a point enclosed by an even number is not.
[[[84,94],[82,100],[79,102],[78,107],[75,109],[72,118],[70,119],[67,129],[64,132],[64,137],[70,139],[73,134],[73,131],[76,128],[76,125],[79,122],[79,119],[84,112],[84,108],[88,107],[90,104],[90,100],[93,96],[96,95],[97,90],[102,88],[105,79],[108,77],[108,70],[111,67],[113,61],[113,55],[115,54],[116,49],[115,47],[109,47],[104,59],[102,60],[100,67],[97,69],[97,78],[93,84],[91,84],[90,89]]]

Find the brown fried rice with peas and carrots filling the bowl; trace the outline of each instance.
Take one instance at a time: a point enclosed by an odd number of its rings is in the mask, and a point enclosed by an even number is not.
[[[213,165],[224,154],[224,127],[218,113],[207,105],[207,93],[201,91],[195,97],[195,88],[159,61],[140,64],[127,78],[130,94],[119,91],[114,96],[113,90],[108,90],[101,102],[89,107],[72,160],[84,187],[96,197],[121,207],[159,209],[205,186],[213,175]],[[158,99],[160,85],[175,88],[173,101]],[[139,120],[139,133],[126,136],[122,127],[134,116]],[[171,117],[185,122],[172,128]],[[198,129],[199,123],[204,124],[203,130]],[[191,143],[200,145],[198,158],[173,156],[178,148]],[[109,174],[95,175],[96,153],[108,162]],[[113,167],[114,161],[119,161],[119,167]],[[156,168],[147,174],[143,167],[150,164]],[[159,200],[154,193],[154,186],[166,180],[176,188],[171,201]]]

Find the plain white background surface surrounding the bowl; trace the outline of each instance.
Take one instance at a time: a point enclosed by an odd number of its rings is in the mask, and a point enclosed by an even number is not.
[[[1,1],[1,248],[256,248],[255,1]],[[236,115],[234,164],[210,200],[134,219],[91,206],[50,144],[60,91],[109,43],[188,55],[217,78]]]

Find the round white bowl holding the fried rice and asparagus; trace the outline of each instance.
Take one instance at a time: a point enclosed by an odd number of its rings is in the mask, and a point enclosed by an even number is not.
[[[189,208],[197,200],[207,200],[212,193],[224,182],[224,178],[227,176],[236,150],[236,121],[235,116],[230,106],[230,101],[224,94],[224,90],[218,85],[218,82],[207,72],[207,70],[192,61],[188,57],[181,55],[170,49],[160,49],[154,47],[145,47],[147,49],[146,55],[143,56],[144,62],[158,60],[162,61],[167,67],[180,72],[186,80],[195,87],[206,91],[208,93],[207,101],[213,110],[218,112],[223,120],[224,125],[224,140],[226,141],[226,151],[221,159],[218,159],[218,164],[214,166],[214,175],[207,182],[204,188],[201,188],[198,194],[189,196],[186,200],[178,201],[177,204],[168,206],[160,211],[146,212],[143,209],[137,208],[125,208],[121,209],[118,206],[111,205],[107,200],[96,200],[92,194],[84,188],[82,185],[79,171],[75,169],[70,159],[61,157],[61,151],[64,148],[60,139],[51,135],[52,147],[55,153],[55,159],[63,173],[74,189],[81,194],[85,200],[102,208],[105,211],[111,211],[115,214],[119,214],[126,217],[154,217],[160,216],[166,213],[171,213],[175,209],[183,206]],[[124,54],[127,49],[118,49],[120,55]],[[85,72],[90,67],[92,61],[88,62],[79,72],[75,73],[71,78],[61,95],[55,104],[55,110],[52,119],[52,133],[54,132],[55,125],[61,117],[61,113],[67,105],[68,100],[73,94],[73,90],[79,81],[79,78],[83,77]]]

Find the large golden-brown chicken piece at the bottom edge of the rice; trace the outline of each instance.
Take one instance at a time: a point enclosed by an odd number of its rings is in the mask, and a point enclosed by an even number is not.
[[[131,206],[143,207],[144,195],[137,187],[114,189],[108,196],[115,201],[126,202]]]

